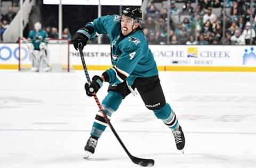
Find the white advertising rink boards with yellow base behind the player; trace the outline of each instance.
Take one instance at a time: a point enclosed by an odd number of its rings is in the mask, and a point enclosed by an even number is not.
[[[0,44],[0,69],[18,69],[18,48],[18,44]],[[256,72],[255,46],[150,45],[149,48],[160,71]],[[56,45],[49,44],[48,49],[51,63],[60,54]],[[83,52],[88,69],[110,68],[109,45],[87,45]],[[71,67],[82,70],[81,58],[73,45],[69,46],[69,56]],[[21,59],[30,64],[26,46],[21,49]]]

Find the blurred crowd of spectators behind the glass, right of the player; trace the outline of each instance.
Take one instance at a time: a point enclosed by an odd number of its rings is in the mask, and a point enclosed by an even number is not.
[[[143,32],[149,44],[167,44],[167,39],[169,44],[256,44],[253,0],[198,0],[197,4],[191,0],[172,0],[170,9],[166,2],[151,1],[146,9]]]

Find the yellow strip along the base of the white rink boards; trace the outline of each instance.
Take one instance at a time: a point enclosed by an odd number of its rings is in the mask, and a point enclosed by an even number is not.
[[[64,66],[67,67],[67,66]],[[25,65],[22,68],[31,68]],[[73,65],[75,70],[83,70],[82,65]],[[107,70],[110,65],[87,65],[88,70]],[[157,66],[159,71],[202,71],[202,72],[256,72],[256,66]],[[18,70],[18,64],[0,64],[0,69]]]

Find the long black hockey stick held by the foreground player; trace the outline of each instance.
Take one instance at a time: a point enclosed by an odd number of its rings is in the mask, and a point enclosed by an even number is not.
[[[84,54],[83,54],[83,48],[82,48],[82,43],[78,44],[78,49],[79,49],[79,53],[81,56],[81,60],[82,60],[82,64],[83,64],[83,69],[84,69],[84,73],[87,79],[87,82],[91,83],[91,79],[89,77],[89,73],[88,70],[86,68],[86,64],[84,61]],[[107,118],[107,115],[105,114],[105,112],[103,111],[102,105],[97,97],[97,95],[95,93],[93,93],[93,97],[95,99],[95,102],[97,103],[99,110],[102,111],[103,117],[105,119],[105,121],[107,122],[107,124],[109,125],[111,131],[114,133],[115,137],[117,138],[117,140],[119,141],[119,143],[121,144],[121,146],[124,148],[126,154],[130,157],[130,159],[132,160],[133,163],[135,164],[139,164],[141,166],[153,166],[154,165],[154,160],[153,159],[146,159],[146,158],[139,158],[139,157],[134,157],[130,154],[130,152],[127,150],[127,148],[124,146],[123,141],[120,139],[120,137],[118,136],[116,130],[114,129],[113,125],[110,123],[110,121]]]

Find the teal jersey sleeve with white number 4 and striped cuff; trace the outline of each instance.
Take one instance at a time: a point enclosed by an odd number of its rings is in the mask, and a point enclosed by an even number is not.
[[[113,68],[108,69],[109,83],[122,83],[133,72],[135,66],[143,57],[143,52],[139,45],[129,41],[127,45],[121,46],[122,54],[118,57]]]

